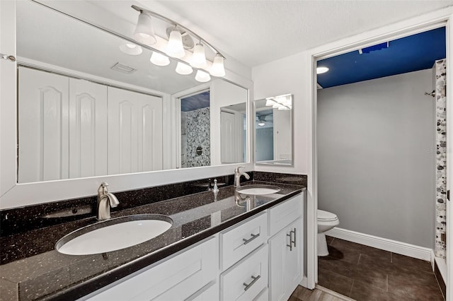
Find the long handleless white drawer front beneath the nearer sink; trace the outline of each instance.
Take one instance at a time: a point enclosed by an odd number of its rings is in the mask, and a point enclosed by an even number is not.
[[[89,300],[184,300],[215,280],[217,262],[217,239],[212,237]]]

